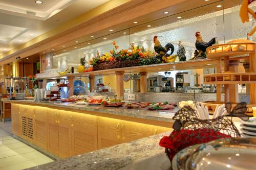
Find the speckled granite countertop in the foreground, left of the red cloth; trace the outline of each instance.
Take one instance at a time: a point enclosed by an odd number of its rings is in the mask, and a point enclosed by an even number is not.
[[[164,153],[165,149],[160,147],[158,143],[162,136],[169,134],[170,132],[164,132],[28,169],[119,169]]]

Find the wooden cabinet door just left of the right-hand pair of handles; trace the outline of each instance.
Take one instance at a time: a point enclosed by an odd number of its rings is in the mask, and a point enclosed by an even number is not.
[[[122,143],[119,119],[98,116],[98,148],[111,147]]]

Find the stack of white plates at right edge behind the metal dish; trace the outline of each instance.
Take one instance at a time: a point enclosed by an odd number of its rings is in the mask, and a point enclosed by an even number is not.
[[[256,118],[250,118],[248,121],[241,121],[240,125],[241,133],[243,137],[255,137],[256,136]]]

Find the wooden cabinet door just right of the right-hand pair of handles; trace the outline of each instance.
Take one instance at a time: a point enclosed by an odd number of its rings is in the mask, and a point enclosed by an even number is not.
[[[121,120],[120,133],[123,142],[129,142],[153,135],[153,125]]]

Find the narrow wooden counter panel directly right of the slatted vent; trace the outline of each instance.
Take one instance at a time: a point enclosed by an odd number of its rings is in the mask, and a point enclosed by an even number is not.
[[[34,117],[34,144],[47,150],[47,108],[35,107]]]

